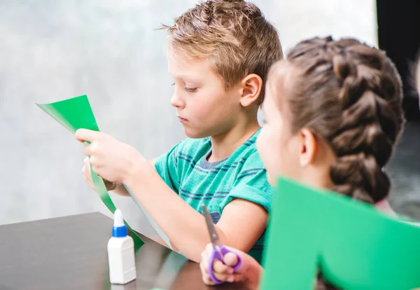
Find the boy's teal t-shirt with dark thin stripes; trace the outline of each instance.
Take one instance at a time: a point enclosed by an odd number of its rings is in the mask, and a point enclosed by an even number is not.
[[[265,167],[255,146],[259,132],[255,132],[231,156],[214,163],[207,161],[211,153],[210,138],[186,139],[157,158],[156,170],[165,183],[200,214],[204,203],[214,223],[235,198],[255,202],[269,212],[273,189],[268,184]],[[259,262],[264,236],[262,234],[248,253]]]

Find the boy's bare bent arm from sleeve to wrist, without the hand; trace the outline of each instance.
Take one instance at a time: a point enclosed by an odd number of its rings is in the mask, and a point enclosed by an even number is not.
[[[125,181],[169,240],[190,260],[200,262],[201,253],[210,242],[204,216],[174,193],[153,167],[133,172]],[[235,199],[223,209],[216,230],[221,242],[241,251],[249,251],[267,225],[264,207]]]

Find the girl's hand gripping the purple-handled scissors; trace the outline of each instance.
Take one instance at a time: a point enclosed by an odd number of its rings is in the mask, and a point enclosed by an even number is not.
[[[258,289],[262,272],[260,264],[243,251],[228,248],[235,251],[241,257],[241,266],[234,272],[233,267],[238,263],[237,256],[233,253],[228,253],[223,256],[223,263],[218,260],[214,261],[213,275],[216,279],[223,282],[244,282],[248,287],[247,289]],[[214,285],[214,282],[211,281],[209,276],[209,259],[212,251],[212,244],[207,244],[206,249],[202,252],[202,261],[200,262],[202,279],[204,284],[207,285]]]

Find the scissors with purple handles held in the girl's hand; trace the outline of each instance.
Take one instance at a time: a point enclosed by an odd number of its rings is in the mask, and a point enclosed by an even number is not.
[[[213,245],[213,251],[211,251],[211,257],[209,260],[209,268],[208,268],[209,276],[210,276],[211,281],[213,281],[216,284],[221,284],[223,283],[223,281],[218,280],[213,275],[214,260],[219,260],[222,263],[224,263],[223,256],[225,256],[225,254],[228,254],[228,253],[235,254],[238,260],[238,263],[235,265],[235,267],[233,267],[233,270],[235,271],[241,266],[241,257],[239,257],[239,255],[235,253],[235,251],[231,251],[227,247],[223,246],[223,244],[221,244],[221,240],[219,240],[219,237],[216,233],[216,229],[214,228],[213,219],[211,219],[211,215],[209,211],[207,210],[206,205],[202,204],[202,209],[203,209],[204,218],[206,219],[207,228],[209,229],[211,244]]]

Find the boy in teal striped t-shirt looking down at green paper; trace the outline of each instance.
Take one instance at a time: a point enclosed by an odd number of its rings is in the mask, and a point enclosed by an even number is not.
[[[187,258],[200,261],[209,242],[204,202],[221,242],[260,260],[272,189],[255,139],[267,70],[282,57],[276,29],[258,7],[239,0],[206,1],[164,28],[171,104],[189,139],[151,165],[102,132],[79,130],[76,138],[92,142],[85,154],[94,172],[114,188],[128,186]],[[86,161],[90,182],[87,168]],[[127,195],[123,186],[116,192]]]

